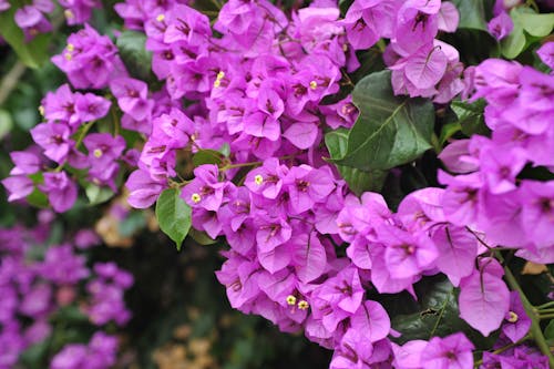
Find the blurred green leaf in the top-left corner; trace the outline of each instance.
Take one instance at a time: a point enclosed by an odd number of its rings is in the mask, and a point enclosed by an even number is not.
[[[13,48],[19,60],[29,68],[39,68],[49,59],[48,45],[50,44],[50,33],[38,34],[30,42],[25,42],[23,31],[13,20],[18,7],[0,13],[0,35]]]

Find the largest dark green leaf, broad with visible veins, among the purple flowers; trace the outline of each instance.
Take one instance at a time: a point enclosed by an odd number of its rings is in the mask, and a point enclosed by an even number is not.
[[[360,116],[337,164],[362,171],[389,170],[431,148],[434,109],[429,100],[394,96],[390,71],[372,73],[356,85],[352,101]]]

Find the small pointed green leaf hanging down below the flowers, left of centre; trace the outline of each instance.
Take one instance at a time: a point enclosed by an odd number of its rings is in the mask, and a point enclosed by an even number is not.
[[[177,188],[165,189],[156,202],[160,228],[175,242],[177,250],[191,229],[191,207],[181,198]]]

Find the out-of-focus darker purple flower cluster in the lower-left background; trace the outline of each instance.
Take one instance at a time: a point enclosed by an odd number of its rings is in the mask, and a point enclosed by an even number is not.
[[[50,216],[44,214],[43,219]],[[51,218],[51,217],[50,217]],[[91,270],[86,259],[79,255],[70,244],[52,245],[43,250],[37,244],[44,243],[51,224],[40,223],[34,229],[17,226],[0,229],[0,368],[13,368],[19,355],[30,346],[49,339],[57,329],[52,319],[62,308],[76,307],[89,315],[90,321],[102,327],[110,320],[124,324],[130,311],[123,303],[123,293],[130,288],[132,276],[114,264],[95,264]],[[80,232],[76,247],[90,247],[96,237],[90,232]],[[43,253],[43,257],[35,255]],[[89,283],[103,284],[106,291],[91,291],[79,296],[80,284],[91,275]],[[107,296],[110,295],[110,296]],[[110,311],[110,316],[99,319],[99,310]],[[114,314],[116,314],[114,316]],[[86,318],[85,318],[86,319]],[[89,348],[82,345],[68,345],[52,361],[52,368],[107,369],[115,361],[117,341],[115,338],[96,331]],[[80,352],[78,355],[78,352]],[[79,358],[78,358],[79,357]],[[86,359],[88,358],[88,359]],[[83,362],[82,360],[88,360]],[[79,363],[76,362],[79,361]]]

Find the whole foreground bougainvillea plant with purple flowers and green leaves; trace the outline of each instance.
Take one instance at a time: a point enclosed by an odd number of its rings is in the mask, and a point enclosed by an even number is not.
[[[554,366],[552,1],[127,0],[111,37],[101,7],[0,1],[30,66],[81,24],[10,201],[155,205],[334,369]]]

